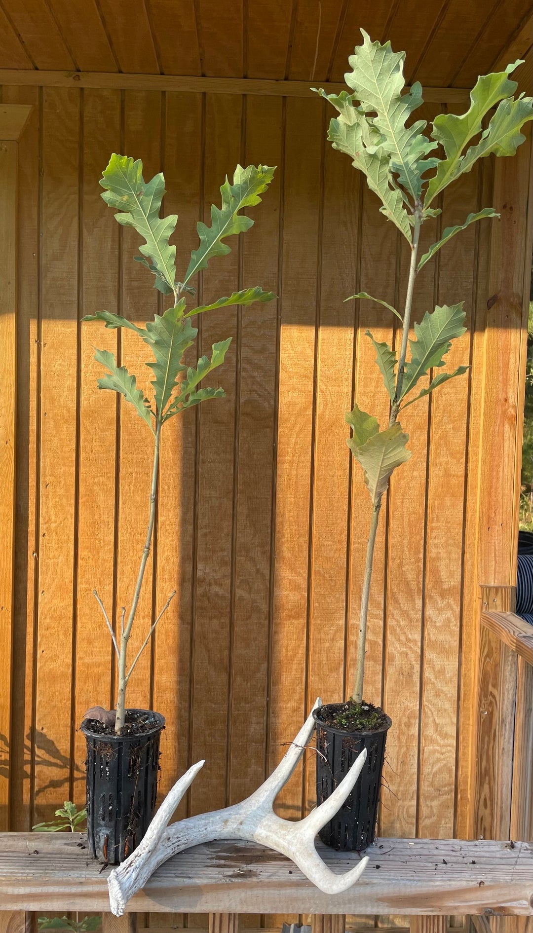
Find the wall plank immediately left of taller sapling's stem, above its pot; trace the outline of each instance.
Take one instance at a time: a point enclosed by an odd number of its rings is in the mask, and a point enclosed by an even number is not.
[[[312,560],[309,581],[307,705],[344,700],[346,550],[350,452],[344,411],[351,409],[361,178],[350,160],[325,151],[323,256],[316,354]],[[354,270],[355,265],[355,270]],[[354,275],[355,272],[355,275]],[[334,391],[331,387],[335,386]],[[316,802],[316,758],[306,769],[306,806]]]

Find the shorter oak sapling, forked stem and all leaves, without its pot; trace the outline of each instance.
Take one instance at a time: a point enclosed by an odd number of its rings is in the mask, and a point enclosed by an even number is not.
[[[153,361],[147,362],[147,367],[152,370],[154,377],[151,383],[153,397],[150,400],[137,387],[133,373],[130,373],[124,366],[120,366],[113,354],[107,350],[97,350],[95,354],[95,359],[108,370],[107,374],[98,380],[99,388],[119,392],[127,402],[133,405],[154,439],[147,537],[133,592],[132,605],[127,618],[126,610],[122,608],[118,634],[115,634],[105,606],[98,593],[94,591],[104,613],[105,623],[111,634],[118,661],[119,683],[115,717],[117,733],[120,733],[124,726],[126,688],[135,664],[147,647],[161,616],[175,596],[175,593],[172,593],[161,609],[143,645],[128,667],[128,642],[132,634],[154,530],[161,427],[176,414],[181,414],[209,398],[225,396],[222,388],[201,388],[200,383],[224,362],[231,338],[214,343],[211,357],[202,356],[196,368],[187,366],[183,362],[183,355],[192,346],[198,333],[197,328],[192,327],[190,318],[217,308],[248,305],[254,301],[271,301],[276,297],[273,292],[265,292],[256,286],[233,292],[229,298],[220,298],[192,308],[190,311],[186,308],[186,296],[193,295],[195,292],[191,285],[194,276],[206,269],[212,258],[225,256],[231,252],[230,246],[223,242],[228,236],[245,232],[254,223],[250,217],[240,212],[259,204],[261,200],[259,195],[270,185],[274,176],[274,168],[263,165],[257,168],[254,165],[242,168],[237,165],[231,185],[226,177],[220,188],[222,205],[217,207],[213,204],[211,207],[211,226],[207,226],[202,221],[197,225],[200,244],[191,253],[189,266],[182,282],[176,281],[175,245],[169,243],[169,237],[175,230],[177,216],[172,214],[160,217],[161,201],[165,194],[163,175],[156,174],[151,181],[145,182],[142,173],[141,160],[133,161],[126,156],[113,154],[100,181],[102,187],[105,188],[102,197],[110,207],[119,211],[119,214],[115,215],[119,224],[123,227],[133,227],[143,238],[144,243],[139,247],[142,256],[135,257],[135,259],[153,272],[154,287],[164,296],[172,298],[173,304],[164,313],[156,314],[154,320],[148,321],[145,327],[137,327],[125,317],[107,311],[88,314],[83,318],[84,321],[104,321],[105,327],[127,327],[133,330],[139,340],[147,343],[154,356]]]

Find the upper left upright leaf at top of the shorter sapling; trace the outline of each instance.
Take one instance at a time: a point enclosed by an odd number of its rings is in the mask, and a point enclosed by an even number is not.
[[[155,287],[163,294],[175,295],[175,246],[169,244],[169,237],[175,230],[177,216],[159,216],[165,194],[162,173],[146,182],[140,159],[133,161],[114,152],[100,184],[106,188],[104,201],[120,212],[115,215],[119,224],[133,227],[146,241],[140,246],[145,257],[140,261],[154,272]]]

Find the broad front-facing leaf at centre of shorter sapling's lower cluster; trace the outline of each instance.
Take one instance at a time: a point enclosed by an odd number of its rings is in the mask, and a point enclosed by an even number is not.
[[[185,299],[180,299],[175,308],[169,308],[161,315],[156,314],[153,321],[147,322],[146,336],[143,338],[156,358],[155,363],[147,363],[147,366],[153,369],[155,375],[152,385],[160,414],[172,396],[178,374],[187,369],[181,358],[198,333],[196,327],[184,319],[184,309]]]

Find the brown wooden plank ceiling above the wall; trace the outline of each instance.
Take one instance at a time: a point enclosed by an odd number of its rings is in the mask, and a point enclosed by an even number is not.
[[[531,47],[530,0],[0,0],[0,67],[340,81],[359,27],[468,88]]]

